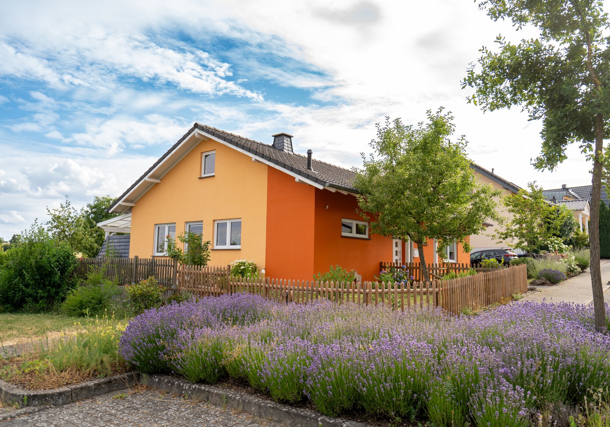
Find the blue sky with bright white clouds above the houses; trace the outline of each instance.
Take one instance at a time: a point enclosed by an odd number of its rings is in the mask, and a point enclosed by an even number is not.
[[[359,165],[375,123],[444,106],[470,157],[518,185],[586,185],[576,147],[535,171],[540,124],[459,81],[497,34],[473,2],[13,2],[0,14],[0,236],[64,195],[117,196],[198,121]],[[458,137],[456,135],[456,137]]]

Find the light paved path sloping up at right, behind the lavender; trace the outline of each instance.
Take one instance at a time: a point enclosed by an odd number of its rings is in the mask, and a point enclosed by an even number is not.
[[[601,284],[604,287],[604,296],[606,302],[610,302],[610,260],[601,260]],[[608,291],[608,292],[606,292]],[[545,300],[547,303],[575,303],[589,304],[593,300],[593,291],[591,290],[591,273],[585,271],[573,278],[567,279],[558,285],[549,286],[544,290],[525,296],[519,301],[534,301],[542,303]]]

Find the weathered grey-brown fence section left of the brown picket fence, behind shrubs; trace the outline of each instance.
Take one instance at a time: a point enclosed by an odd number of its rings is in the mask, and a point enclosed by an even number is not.
[[[117,278],[119,285],[140,282],[150,276],[166,287],[174,282],[174,261],[163,258],[81,258],[73,270],[73,276],[86,278],[91,267],[103,268],[104,276]]]

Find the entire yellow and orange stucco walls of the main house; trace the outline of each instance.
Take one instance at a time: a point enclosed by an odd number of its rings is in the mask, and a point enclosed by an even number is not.
[[[202,153],[209,151],[216,154],[215,172],[200,178]],[[310,280],[329,265],[340,265],[371,280],[380,261],[392,260],[392,239],[342,235],[342,218],[362,220],[353,195],[296,182],[214,140],[199,143],[160,181],[132,207],[130,257],[154,256],[156,224],[176,224],[179,234],[188,222],[201,221],[203,239],[212,242],[210,265],[253,259],[272,278]],[[214,249],[215,221],[237,218],[241,248]],[[431,243],[423,249],[427,262],[434,262]],[[403,262],[404,249],[403,243]],[[469,262],[467,256],[459,246],[458,262]]]

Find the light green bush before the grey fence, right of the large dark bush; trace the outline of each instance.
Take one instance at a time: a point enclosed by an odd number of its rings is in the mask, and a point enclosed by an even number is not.
[[[91,266],[87,279],[68,293],[61,306],[69,316],[92,316],[113,308],[112,298],[120,293],[117,280],[105,278],[106,268]]]

